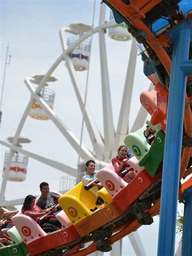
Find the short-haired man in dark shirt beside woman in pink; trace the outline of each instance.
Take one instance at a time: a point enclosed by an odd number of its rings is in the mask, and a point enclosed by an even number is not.
[[[54,200],[58,200],[60,196],[49,192],[49,184],[47,182],[42,182],[40,184],[41,196],[38,198],[36,205],[42,210],[53,207]]]

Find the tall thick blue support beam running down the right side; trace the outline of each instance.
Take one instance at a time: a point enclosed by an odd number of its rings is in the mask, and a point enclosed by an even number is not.
[[[167,35],[173,43],[173,55],[162,175],[158,256],[174,256],[175,251],[186,72],[188,73],[188,68],[186,70],[184,67],[182,70],[180,65],[189,57],[192,24],[187,19]]]

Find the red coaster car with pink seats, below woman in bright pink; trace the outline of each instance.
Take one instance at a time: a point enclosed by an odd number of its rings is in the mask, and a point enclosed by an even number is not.
[[[13,224],[21,235],[30,254],[36,255],[55,248],[54,255],[62,255],[60,248],[65,248],[66,244],[76,241],[79,238],[77,230],[64,211],[60,211],[56,215],[56,218],[62,225],[61,229],[52,233],[45,233],[31,217],[21,213],[13,217]]]

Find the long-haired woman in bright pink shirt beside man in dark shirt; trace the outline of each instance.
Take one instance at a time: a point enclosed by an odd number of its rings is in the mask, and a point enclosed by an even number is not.
[[[25,201],[23,203],[23,207],[21,209],[21,213],[30,216],[31,218],[36,221],[45,232],[49,232],[50,228],[53,231],[60,230],[58,226],[60,226],[60,222],[56,218],[48,218],[44,219],[44,221],[39,220],[42,216],[46,215],[49,213],[51,208],[41,210],[38,208],[37,205],[35,205],[35,196],[28,195],[25,198]]]

